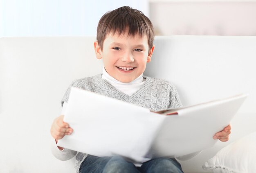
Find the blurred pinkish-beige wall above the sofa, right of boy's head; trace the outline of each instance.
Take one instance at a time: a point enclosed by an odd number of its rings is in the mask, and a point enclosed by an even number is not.
[[[256,35],[256,1],[150,0],[157,35]]]

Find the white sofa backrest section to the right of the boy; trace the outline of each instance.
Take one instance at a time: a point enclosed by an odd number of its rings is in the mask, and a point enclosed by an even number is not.
[[[249,94],[240,112],[256,113],[256,37],[158,36],[145,74],[177,87],[185,106]]]

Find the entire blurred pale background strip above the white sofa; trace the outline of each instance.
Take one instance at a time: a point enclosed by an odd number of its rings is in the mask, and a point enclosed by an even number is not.
[[[0,37],[96,35],[121,6],[142,11],[156,35],[256,35],[256,0],[0,0]]]

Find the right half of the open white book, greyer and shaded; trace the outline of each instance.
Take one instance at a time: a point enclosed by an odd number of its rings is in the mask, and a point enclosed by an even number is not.
[[[229,125],[247,96],[211,101],[177,110],[164,121],[152,157],[180,157],[213,147],[213,136]]]

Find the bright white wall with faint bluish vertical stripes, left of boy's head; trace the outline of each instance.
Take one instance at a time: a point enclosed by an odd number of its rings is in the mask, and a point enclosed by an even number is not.
[[[101,16],[122,6],[149,13],[147,0],[0,0],[0,37],[96,35]]]

